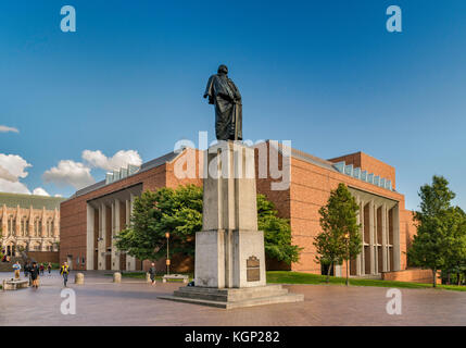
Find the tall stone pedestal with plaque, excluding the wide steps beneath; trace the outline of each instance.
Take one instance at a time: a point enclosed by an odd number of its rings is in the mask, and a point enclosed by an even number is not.
[[[211,147],[205,158],[203,231],[196,234],[194,284],[214,288],[264,286],[254,149],[222,141]]]

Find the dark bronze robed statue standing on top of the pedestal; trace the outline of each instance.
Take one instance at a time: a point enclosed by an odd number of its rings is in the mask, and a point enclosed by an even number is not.
[[[228,67],[218,66],[218,72],[209,78],[204,98],[215,105],[215,133],[218,140],[242,140],[241,95],[228,78]]]

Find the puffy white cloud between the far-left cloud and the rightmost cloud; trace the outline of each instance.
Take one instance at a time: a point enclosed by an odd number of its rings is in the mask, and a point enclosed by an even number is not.
[[[76,189],[96,183],[90,175],[90,167],[72,160],[60,161],[58,166],[46,171],[42,177],[47,183],[54,183],[59,186],[71,185]]]

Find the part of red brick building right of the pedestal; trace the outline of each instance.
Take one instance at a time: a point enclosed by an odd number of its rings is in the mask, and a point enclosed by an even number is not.
[[[406,246],[415,227],[404,196],[395,190],[393,166],[363,152],[323,160],[297,149],[287,149],[284,157],[284,147],[270,142],[266,146],[269,153],[278,152],[278,163],[290,172],[288,189],[272,190],[267,175],[257,179],[257,191],[265,194],[280,215],[290,220],[293,244],[304,248],[300,262],[293,263],[291,270],[322,273],[313,245],[320,231],[318,210],[339,183],[350,188],[360,204],[364,246],[357,260],[351,262],[350,274],[379,275],[406,269]],[[341,274],[341,268],[336,273]]]

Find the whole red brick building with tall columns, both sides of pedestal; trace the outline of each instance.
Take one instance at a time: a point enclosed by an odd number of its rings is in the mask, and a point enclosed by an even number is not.
[[[363,152],[323,160],[273,141],[255,147],[257,191],[276,204],[280,216],[290,220],[293,244],[304,248],[291,270],[322,272],[313,246],[320,229],[318,210],[339,183],[349,186],[361,207],[364,246],[350,264],[351,274],[406,269],[406,245],[415,229],[404,196],[395,190],[393,166]],[[281,176],[273,173],[274,166]],[[140,270],[142,263],[119,253],[112,238],[129,222],[134,197],[164,186],[202,185],[202,153],[185,149],[139,169],[108,174],[105,181],[78,190],[61,204],[61,261],[68,260],[74,269],[83,270]],[[186,175],[179,178],[176,169]],[[337,268],[337,275],[340,272]]]

